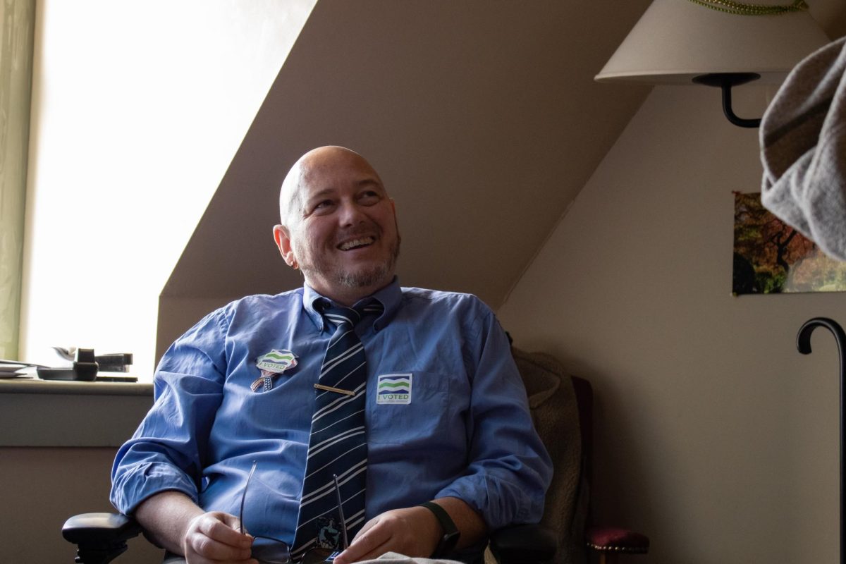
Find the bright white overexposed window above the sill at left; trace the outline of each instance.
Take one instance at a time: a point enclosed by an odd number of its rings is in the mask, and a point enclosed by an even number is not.
[[[316,0],[40,0],[20,356],[135,353]]]

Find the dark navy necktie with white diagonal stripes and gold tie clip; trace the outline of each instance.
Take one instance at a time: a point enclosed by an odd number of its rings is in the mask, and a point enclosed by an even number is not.
[[[374,301],[357,309],[324,307],[335,324],[315,385],[309,451],[294,534],[294,560],[315,547],[337,548],[340,523],[334,475],[338,476],[343,516],[351,539],[365,520],[367,435],[365,348],[354,326],[368,313],[382,312]]]

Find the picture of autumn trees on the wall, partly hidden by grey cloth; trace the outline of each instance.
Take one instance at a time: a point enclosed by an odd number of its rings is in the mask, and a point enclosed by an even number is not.
[[[732,293],[846,291],[846,263],[761,205],[761,194],[734,193]]]

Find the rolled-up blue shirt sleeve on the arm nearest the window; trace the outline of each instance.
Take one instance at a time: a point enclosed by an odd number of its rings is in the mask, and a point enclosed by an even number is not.
[[[198,501],[208,436],[222,400],[224,324],[222,309],[207,315],[162,357],[153,407],[113,464],[110,498],[119,512],[131,514],[166,490]]]

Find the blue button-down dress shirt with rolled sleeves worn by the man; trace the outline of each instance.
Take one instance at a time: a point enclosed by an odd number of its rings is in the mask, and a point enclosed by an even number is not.
[[[508,340],[470,294],[399,287],[356,326],[367,357],[366,518],[453,496],[494,530],[536,523],[552,463],[532,426]],[[314,384],[334,326],[308,287],[239,299],[173,343],[154,381],[156,402],[118,451],[111,499],[130,514],[179,490],[206,511],[239,513],[251,534],[294,538]],[[297,364],[250,388],[256,359],[289,350]],[[411,375],[409,402],[377,402],[379,377]]]

